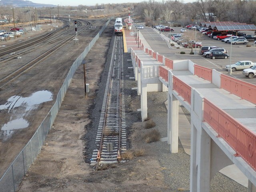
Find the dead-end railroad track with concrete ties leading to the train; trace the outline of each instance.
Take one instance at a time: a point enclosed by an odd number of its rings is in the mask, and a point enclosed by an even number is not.
[[[126,150],[122,36],[115,36],[91,164],[112,164]]]

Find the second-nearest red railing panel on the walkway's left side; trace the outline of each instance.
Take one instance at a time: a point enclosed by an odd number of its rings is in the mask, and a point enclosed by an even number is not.
[[[176,76],[173,76],[173,90],[176,90],[179,95],[181,95],[185,101],[191,104],[191,87],[179,80]]]

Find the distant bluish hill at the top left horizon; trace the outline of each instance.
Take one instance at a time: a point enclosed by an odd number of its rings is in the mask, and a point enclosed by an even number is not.
[[[14,7],[56,7],[51,4],[33,3],[24,0],[0,0],[0,6],[14,6]]]

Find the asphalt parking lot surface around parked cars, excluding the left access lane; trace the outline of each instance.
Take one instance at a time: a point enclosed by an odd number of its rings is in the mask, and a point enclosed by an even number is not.
[[[174,27],[174,32],[178,33],[178,32],[180,32],[180,29],[182,29],[182,27]],[[254,34],[254,31],[240,31],[240,32],[245,32],[246,34]],[[195,30],[187,29],[187,32],[184,32],[184,34],[186,34],[186,33],[194,33],[195,34]],[[202,46],[217,46],[217,47],[224,48],[228,51],[228,55],[230,57],[228,59],[205,58],[204,56],[199,55],[200,48],[196,48],[196,49],[193,48],[193,52],[196,51],[198,54],[197,56],[188,56],[187,55],[187,56],[183,56],[183,57],[192,60],[194,63],[201,65],[201,66],[208,67],[208,68],[216,69],[217,71],[222,72],[224,74],[228,74],[228,71],[225,70],[226,65],[235,64],[236,62],[242,61],[242,60],[250,60],[250,61],[256,63],[256,56],[255,56],[256,46],[255,46],[254,42],[249,42],[249,44],[251,45],[250,47],[246,47],[246,45],[244,45],[244,44],[231,46],[231,44],[222,42],[221,40],[215,40],[213,38],[209,38],[207,35],[203,35],[198,31],[196,33],[197,33],[196,41],[202,42]],[[166,35],[168,35],[168,34],[166,33]],[[176,43],[174,43],[174,44],[176,44]],[[186,54],[189,54],[189,52],[191,51],[191,48],[184,48],[184,47],[180,46],[180,48],[178,50],[185,51]],[[237,70],[237,71],[232,72],[231,76],[256,85],[256,77],[249,79],[248,77],[246,77],[242,74],[242,70]]]

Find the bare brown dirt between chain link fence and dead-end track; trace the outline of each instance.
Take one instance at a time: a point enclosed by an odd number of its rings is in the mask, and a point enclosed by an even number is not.
[[[96,45],[86,56],[86,83],[90,84],[88,98],[84,98],[83,66],[76,74],[62,102],[60,112],[50,130],[45,145],[38,158],[27,172],[18,192],[132,192],[166,191],[162,168],[154,150],[142,140],[145,132],[141,120],[129,128],[130,145],[133,149],[145,149],[144,156],[130,161],[109,166],[106,170],[95,171],[86,163],[84,150],[86,126],[94,117],[91,116],[99,86],[101,73],[108,57],[111,35],[103,33]],[[129,55],[128,55],[129,57]],[[133,81],[134,86],[136,86]],[[131,95],[130,95],[131,96]],[[140,100],[132,96],[128,101],[128,112],[139,116],[137,108]],[[128,96],[129,98],[129,96]],[[137,119],[136,119],[137,120]],[[148,149],[147,149],[148,148]]]

